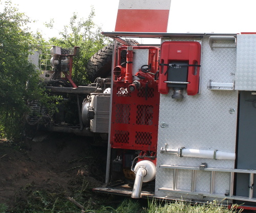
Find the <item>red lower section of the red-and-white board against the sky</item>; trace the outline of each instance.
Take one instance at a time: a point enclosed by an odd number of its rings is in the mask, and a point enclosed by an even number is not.
[[[169,10],[119,9],[115,32],[167,32]]]

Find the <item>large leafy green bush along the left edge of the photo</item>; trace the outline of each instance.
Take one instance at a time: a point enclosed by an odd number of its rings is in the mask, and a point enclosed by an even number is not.
[[[0,6],[0,132],[2,136],[18,140],[24,128],[25,115],[30,113],[32,100],[47,102],[48,95],[38,85],[38,71],[28,61],[36,43],[26,28],[29,23],[11,2]]]

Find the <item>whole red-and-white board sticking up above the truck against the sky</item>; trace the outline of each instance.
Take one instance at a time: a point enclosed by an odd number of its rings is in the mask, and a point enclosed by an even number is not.
[[[120,0],[116,32],[167,32],[170,0]]]

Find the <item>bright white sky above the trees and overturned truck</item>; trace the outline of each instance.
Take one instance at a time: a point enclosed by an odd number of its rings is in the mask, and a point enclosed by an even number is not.
[[[127,0],[129,1],[129,0]],[[147,1],[147,0],[143,0]],[[157,0],[156,0],[157,1]],[[31,30],[37,29],[46,37],[58,36],[63,26],[69,24],[74,12],[86,19],[95,9],[94,22],[104,32],[115,29],[119,0],[11,0],[31,20]],[[256,0],[172,0],[170,4],[168,33],[240,33],[256,32]],[[54,19],[54,28],[44,23]]]

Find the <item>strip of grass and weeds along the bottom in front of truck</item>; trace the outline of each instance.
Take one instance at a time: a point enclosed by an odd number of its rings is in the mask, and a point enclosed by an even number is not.
[[[84,192],[81,190],[80,192]],[[98,196],[98,194],[97,194]],[[120,196],[118,197],[120,199]],[[5,204],[0,204],[0,213],[64,213],[64,212],[87,212],[87,213],[231,213],[236,211],[236,206],[231,209],[221,205],[217,201],[205,204],[191,205],[184,201],[165,202],[148,200],[143,206],[139,201],[117,197],[103,196],[101,198],[92,195],[90,198],[84,195],[76,195],[75,202],[67,199],[65,194],[50,193],[47,191],[33,191],[28,194],[27,200],[18,202],[18,205],[9,209]],[[73,199],[73,198],[72,198]],[[113,201],[118,201],[118,204]],[[83,208],[81,208],[81,206]],[[238,212],[241,212],[240,209]]]

